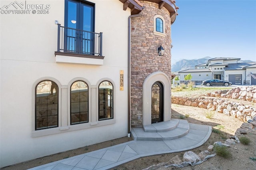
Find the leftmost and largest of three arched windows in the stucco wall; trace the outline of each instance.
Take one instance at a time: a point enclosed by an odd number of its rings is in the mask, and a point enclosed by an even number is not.
[[[36,130],[58,127],[58,85],[44,80],[36,85]]]

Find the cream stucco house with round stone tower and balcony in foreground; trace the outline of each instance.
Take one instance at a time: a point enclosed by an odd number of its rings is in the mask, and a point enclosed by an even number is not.
[[[1,0],[0,166],[169,121],[177,9],[174,0]]]

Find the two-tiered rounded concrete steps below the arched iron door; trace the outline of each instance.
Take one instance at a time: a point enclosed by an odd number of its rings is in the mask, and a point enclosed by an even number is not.
[[[190,125],[186,120],[171,119],[171,121],[153,123],[143,128],[132,128],[134,140],[171,140],[188,134]]]

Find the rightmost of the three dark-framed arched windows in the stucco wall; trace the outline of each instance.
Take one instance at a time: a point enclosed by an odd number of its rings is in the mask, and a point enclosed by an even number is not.
[[[99,121],[113,119],[113,85],[103,81],[99,85]]]

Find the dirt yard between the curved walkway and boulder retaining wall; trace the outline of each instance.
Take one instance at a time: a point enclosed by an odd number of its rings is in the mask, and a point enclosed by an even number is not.
[[[189,123],[209,125],[216,129],[221,127],[221,134],[212,132],[206,143],[198,148],[191,150],[196,154],[199,154],[203,150],[207,150],[208,146],[216,141],[221,141],[224,143],[225,140],[229,138],[229,136],[234,136],[236,130],[242,125],[242,122],[238,119],[226,116],[223,113],[214,113],[213,119],[207,119],[205,116],[206,112],[206,109],[201,109],[198,107],[188,107],[172,104],[172,118],[180,119],[180,117],[185,117],[185,115],[187,115],[189,117],[185,118],[185,120],[187,120]],[[238,135],[238,137],[239,136],[242,135]],[[158,170],[254,170],[256,169],[256,161],[250,160],[249,158],[256,157],[256,130],[252,130],[245,136],[250,138],[252,142],[249,145],[236,144],[228,148],[232,154],[231,158],[229,159],[225,159],[220,156],[214,156],[202,164],[196,165],[194,167],[169,167],[159,168]],[[138,160],[134,160],[114,168],[114,170],[142,170],[153,164],[168,162],[176,155],[178,155],[182,160],[183,154],[184,152],[178,152],[140,158]]]

